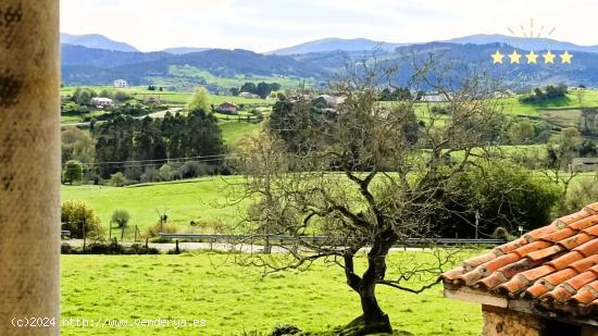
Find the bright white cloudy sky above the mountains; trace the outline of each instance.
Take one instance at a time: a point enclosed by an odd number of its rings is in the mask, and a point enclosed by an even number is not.
[[[101,34],[141,51],[272,51],[327,38],[426,42],[535,32],[598,45],[596,0],[61,0],[61,32]],[[556,28],[550,36],[549,30]]]

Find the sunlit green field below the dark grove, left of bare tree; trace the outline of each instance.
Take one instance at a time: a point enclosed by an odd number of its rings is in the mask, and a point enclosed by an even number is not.
[[[62,186],[62,201],[77,200],[91,207],[108,228],[112,212],[125,209],[130,225],[139,229],[158,222],[157,210],[165,210],[169,222],[188,227],[198,223],[221,222],[234,225],[238,217],[235,207],[227,204],[228,183],[239,177],[205,177],[178,183],[135,185],[129,187]]]

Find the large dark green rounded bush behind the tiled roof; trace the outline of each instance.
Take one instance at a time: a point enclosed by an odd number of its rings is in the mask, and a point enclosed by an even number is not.
[[[478,237],[498,227],[518,233],[547,225],[560,197],[560,188],[545,183],[521,166],[504,162],[472,167],[446,186],[457,196],[443,200],[446,210],[432,219],[443,237],[473,238],[475,213],[479,214]]]

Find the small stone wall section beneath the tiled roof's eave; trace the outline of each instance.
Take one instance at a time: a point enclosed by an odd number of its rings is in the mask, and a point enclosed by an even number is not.
[[[541,336],[544,321],[540,318],[497,308],[482,306],[484,336]]]

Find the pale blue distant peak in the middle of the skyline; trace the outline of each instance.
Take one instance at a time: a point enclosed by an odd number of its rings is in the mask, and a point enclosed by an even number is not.
[[[328,51],[372,51],[376,49],[381,49],[384,51],[394,51],[395,48],[400,46],[404,46],[404,43],[389,43],[374,41],[366,38],[342,39],[332,37],[270,51],[267,53],[288,55]]]

